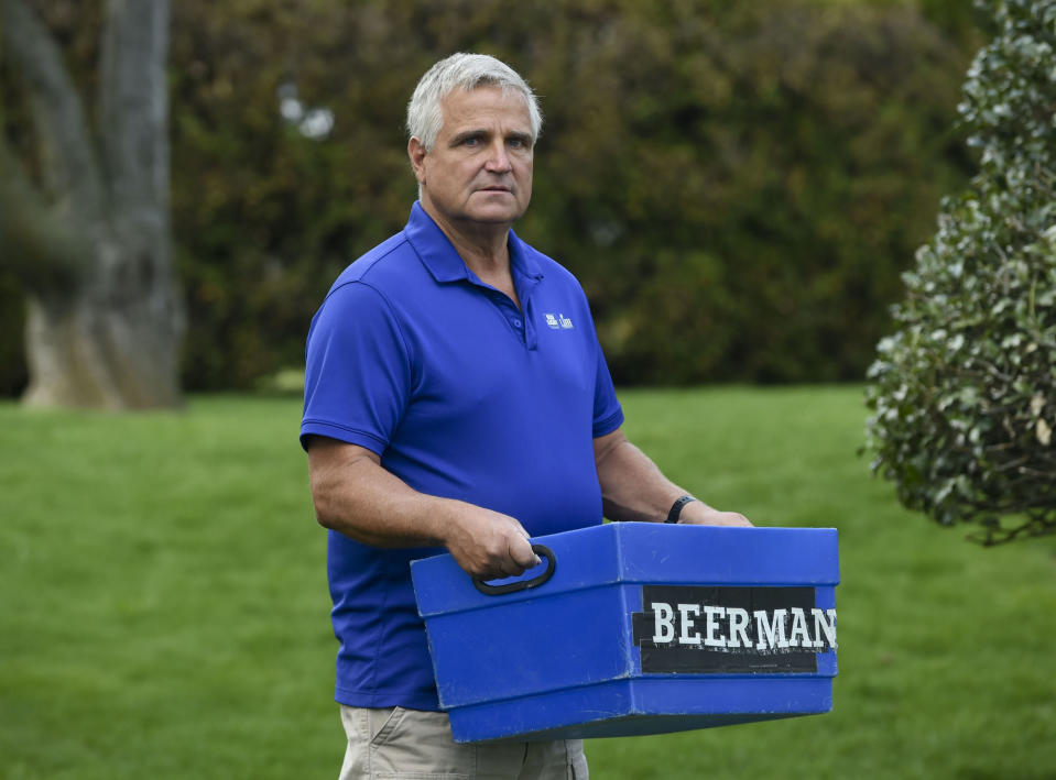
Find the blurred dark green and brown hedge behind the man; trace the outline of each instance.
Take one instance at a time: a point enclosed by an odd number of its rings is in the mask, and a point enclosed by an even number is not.
[[[35,4],[90,90],[98,0]],[[952,128],[973,22],[954,0],[174,3],[185,386],[302,363],[333,278],[405,221],[405,100],[457,50],[507,59],[543,96],[518,231],[584,283],[618,383],[860,377],[899,274],[971,169]],[[328,135],[283,120],[291,89],[333,111]],[[9,72],[0,97],[31,157]],[[4,275],[0,312],[14,394]]]

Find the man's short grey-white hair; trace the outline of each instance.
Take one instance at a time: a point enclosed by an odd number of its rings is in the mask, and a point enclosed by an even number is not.
[[[407,103],[407,133],[422,142],[426,152],[433,151],[436,136],[444,124],[440,101],[456,89],[472,90],[481,85],[513,90],[524,96],[532,123],[532,141],[543,130],[543,112],[535,92],[527,83],[500,59],[487,54],[459,52],[436,63],[425,72]]]

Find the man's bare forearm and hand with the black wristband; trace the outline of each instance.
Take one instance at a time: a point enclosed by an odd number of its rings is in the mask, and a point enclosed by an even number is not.
[[[661,473],[649,457],[628,441],[622,430],[614,430],[594,440],[595,463],[601,483],[605,516],[610,520],[664,521],[672,504],[686,495]],[[679,523],[708,526],[750,526],[748,518],[736,512],[719,512],[695,501],[686,504]]]

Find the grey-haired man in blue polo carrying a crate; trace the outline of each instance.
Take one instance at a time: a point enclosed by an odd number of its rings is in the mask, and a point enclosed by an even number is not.
[[[530,536],[602,512],[751,525],[686,496],[627,440],[579,284],[511,230],[541,124],[503,63],[434,65],[407,108],[410,221],[340,275],[312,323],[301,437],[330,529],[342,778],[587,776],[578,740],[451,740],[412,559],[446,548],[496,579],[538,562]]]

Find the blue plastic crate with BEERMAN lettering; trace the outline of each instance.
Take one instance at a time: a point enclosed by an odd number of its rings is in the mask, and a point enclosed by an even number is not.
[[[456,741],[655,734],[831,710],[835,529],[612,523],[533,542],[546,560],[492,582],[522,587],[498,595],[450,556],[411,564]]]

